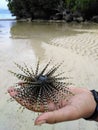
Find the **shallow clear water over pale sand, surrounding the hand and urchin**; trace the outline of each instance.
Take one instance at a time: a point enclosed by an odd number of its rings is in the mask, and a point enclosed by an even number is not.
[[[64,60],[64,71],[77,87],[97,89],[98,85],[98,25],[92,23],[65,24],[49,22],[0,21],[0,130],[97,130],[95,122],[64,122],[34,126],[36,114],[10,102],[6,93],[16,78],[8,70],[17,71],[14,61],[35,67],[50,58],[54,63]]]

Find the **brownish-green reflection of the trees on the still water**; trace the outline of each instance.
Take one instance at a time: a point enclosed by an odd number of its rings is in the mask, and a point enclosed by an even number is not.
[[[49,40],[57,36],[73,35],[77,33],[73,29],[74,26],[67,26],[65,23],[17,22],[16,25],[11,28],[11,35],[12,38],[40,38]]]

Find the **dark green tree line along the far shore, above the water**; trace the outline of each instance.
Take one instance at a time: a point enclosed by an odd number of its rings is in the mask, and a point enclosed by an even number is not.
[[[98,15],[98,0],[7,0],[17,19],[64,19],[66,14],[78,12],[90,20]]]

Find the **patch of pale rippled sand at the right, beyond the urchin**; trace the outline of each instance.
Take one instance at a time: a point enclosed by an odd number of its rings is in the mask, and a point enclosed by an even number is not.
[[[64,47],[82,56],[89,56],[95,60],[98,59],[98,34],[95,33],[54,38],[50,41],[50,44]]]

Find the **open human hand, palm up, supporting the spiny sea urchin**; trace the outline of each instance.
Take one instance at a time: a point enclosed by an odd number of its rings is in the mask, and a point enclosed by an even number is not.
[[[68,101],[61,100],[59,103],[59,109],[56,110],[57,106],[50,102],[48,104],[49,112],[44,112],[43,105],[40,107],[40,112],[43,112],[35,120],[35,125],[40,125],[43,123],[59,123],[64,121],[71,121],[80,118],[90,117],[96,107],[96,102],[92,93],[88,89],[70,87],[69,90],[74,93]],[[15,88],[10,88],[8,90],[11,97],[13,97],[21,105],[24,105],[24,100],[17,97],[17,90]],[[36,104],[32,107],[31,104],[25,103],[25,107],[32,111],[36,110]]]

